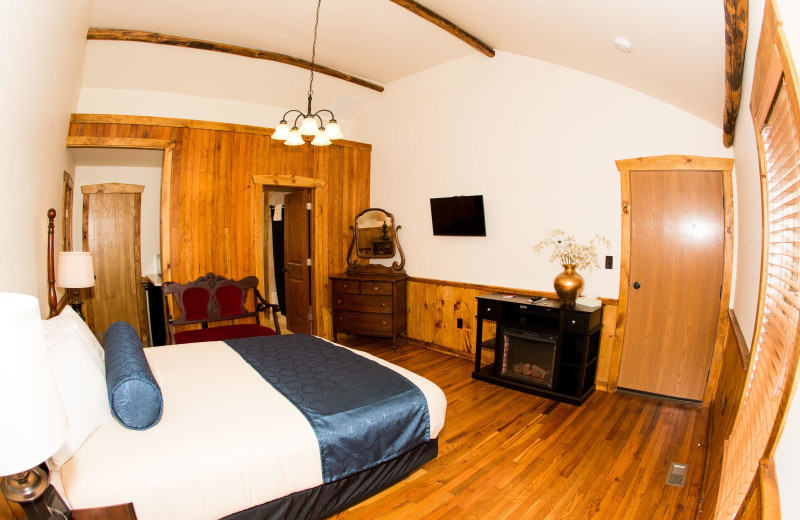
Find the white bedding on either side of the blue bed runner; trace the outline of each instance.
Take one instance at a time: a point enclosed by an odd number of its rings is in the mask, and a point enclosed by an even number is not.
[[[431,438],[447,402],[399,372],[428,401]],[[139,520],[217,519],[322,484],[319,445],[303,415],[222,342],[145,349],[164,399],[145,431],[110,420],[52,475],[70,507],[133,502]]]

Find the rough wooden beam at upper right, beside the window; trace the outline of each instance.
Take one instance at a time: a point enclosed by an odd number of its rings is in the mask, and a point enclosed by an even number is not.
[[[725,0],[725,115],[722,122],[722,143],[727,148],[733,146],[736,117],[742,99],[748,3],[748,0]]]

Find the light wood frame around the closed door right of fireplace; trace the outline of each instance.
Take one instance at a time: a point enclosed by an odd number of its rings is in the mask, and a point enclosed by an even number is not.
[[[725,233],[723,237],[724,252],[722,264],[722,294],[720,295],[719,317],[717,318],[717,334],[714,351],[711,356],[708,381],[703,394],[703,406],[711,404],[717,387],[722,367],[722,352],[725,344],[725,331],[728,324],[728,307],[731,299],[731,279],[733,262],[733,159],[720,157],[698,157],[692,155],[661,155],[656,157],[639,157],[616,161],[620,173],[622,189],[622,244],[620,251],[619,304],[617,306],[617,324],[614,332],[614,347],[611,353],[611,371],[608,378],[608,391],[617,389],[620,364],[622,362],[622,344],[625,339],[625,319],[628,311],[628,287],[630,284],[631,261],[631,179],[632,171],[719,171],[722,173],[722,198]]]

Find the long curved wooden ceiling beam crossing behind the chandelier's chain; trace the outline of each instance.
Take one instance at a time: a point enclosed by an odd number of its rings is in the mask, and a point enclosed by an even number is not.
[[[146,31],[129,31],[126,29],[94,29],[90,28],[86,34],[87,40],[109,40],[109,41],[126,41],[126,42],[142,42],[142,43],[157,43],[159,45],[172,45],[175,47],[187,47],[189,49],[201,49],[205,51],[223,52],[226,54],[235,54],[237,56],[244,56],[245,58],[257,58],[260,60],[277,61],[278,63],[285,63],[286,65],[293,65],[301,69],[310,70],[311,62],[294,58],[285,54],[277,52],[262,51],[258,49],[251,49],[250,47],[241,47],[239,45],[231,45],[228,43],[212,42],[208,40],[197,40],[195,38],[186,38],[185,36],[175,36],[171,34],[159,34]],[[383,86],[376,83],[371,83],[367,80],[351,76],[344,72],[340,72],[324,65],[314,64],[314,71],[320,74],[355,83],[362,87],[366,87],[377,92],[383,92]]]

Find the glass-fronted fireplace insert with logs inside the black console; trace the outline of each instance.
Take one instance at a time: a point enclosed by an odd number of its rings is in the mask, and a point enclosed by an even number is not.
[[[499,376],[553,388],[557,334],[504,328]]]

